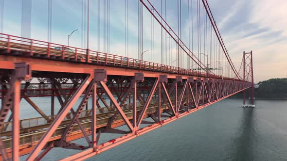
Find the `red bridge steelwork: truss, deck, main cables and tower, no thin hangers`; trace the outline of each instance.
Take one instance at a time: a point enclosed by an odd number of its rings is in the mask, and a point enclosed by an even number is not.
[[[178,46],[201,68],[206,68],[152,3],[140,2]],[[202,2],[237,79],[89,48],[69,47],[70,52],[65,45],[0,33],[1,159],[17,161],[19,156],[28,154],[27,161],[41,160],[52,148],[61,147],[82,150],[63,160],[84,160],[246,89],[251,88],[254,103],[252,51],[244,52],[241,79],[207,1]],[[51,115],[30,97],[51,97]],[[19,120],[21,98],[40,117]],[[72,106],[78,99],[74,111]],[[59,111],[55,111],[56,101]],[[127,126],[127,130],[117,129],[121,126]],[[105,133],[122,136],[99,145]],[[88,146],[72,143],[80,138],[85,138]]]

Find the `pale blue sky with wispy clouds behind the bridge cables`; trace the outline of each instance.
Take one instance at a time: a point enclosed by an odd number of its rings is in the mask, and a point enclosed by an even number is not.
[[[22,0],[0,0],[0,32],[48,41],[48,0],[23,1],[25,1],[24,11],[22,11]],[[29,12],[27,12],[30,9],[29,1],[32,2],[31,23],[29,23]],[[70,46],[87,48],[87,25],[85,25],[87,23],[87,8],[83,7],[85,1],[87,5],[87,0],[52,0],[51,42],[67,45],[68,34],[78,29],[71,36]],[[141,51],[138,51],[138,1],[109,0],[109,43],[104,36],[107,33],[104,30],[107,27],[104,14],[106,10],[104,6],[107,1],[90,0],[89,48],[139,59]],[[161,14],[161,0],[150,1]],[[162,0],[162,16],[176,34],[178,34],[177,2],[177,0]],[[255,82],[287,77],[286,0],[276,0],[276,3],[272,0],[208,0],[208,2],[237,70],[242,62],[243,51],[252,50]],[[204,20],[206,15],[201,0],[199,0],[199,5],[201,20],[200,23],[197,23],[197,0],[181,0],[179,37],[196,56],[198,53],[205,53],[210,59],[209,46],[212,45],[208,42],[210,26],[209,23],[205,23],[208,21]],[[189,17],[188,8],[190,10]],[[128,14],[125,11],[128,11]],[[200,27],[197,27],[198,25]],[[29,31],[31,31],[31,35]],[[198,31],[201,32],[200,51],[197,48]],[[203,36],[205,31],[208,31],[206,32],[208,33],[206,34],[207,39],[205,39],[206,35]],[[176,43],[169,38],[168,33],[165,34],[163,29],[161,41],[161,26],[143,7],[143,51],[148,50],[144,53],[143,59],[161,63],[162,52],[163,64],[176,66],[178,59]],[[205,46],[207,47],[205,48]],[[221,53],[221,51],[219,52]],[[195,63],[188,63],[188,56],[183,51],[182,55],[182,67],[196,67],[196,65],[193,66]],[[204,55],[199,54],[198,58],[203,64],[207,64],[208,60]],[[218,59],[218,61],[221,60]],[[222,61],[221,64],[216,62],[212,64],[209,60],[208,64],[211,64],[211,67],[224,67],[221,65],[224,64]],[[220,74],[221,71],[215,72]],[[242,69],[240,73],[242,73]],[[225,70],[223,74],[227,75],[228,73]]]

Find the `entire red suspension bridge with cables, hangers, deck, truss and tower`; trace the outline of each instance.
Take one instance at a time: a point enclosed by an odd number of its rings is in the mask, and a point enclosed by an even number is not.
[[[190,30],[183,32],[188,34],[187,42],[181,34],[181,0],[176,1],[178,28],[169,25],[166,0],[161,0],[160,7],[151,0],[138,0],[138,59],[127,56],[128,16],[125,56],[109,53],[109,0],[98,2],[99,13],[101,5],[106,7],[102,13],[106,52],[89,48],[90,4],[84,2],[87,34],[82,39],[87,48],[50,42],[52,0],[48,41],[0,33],[1,160],[18,161],[24,155],[28,161],[41,160],[54,147],[80,150],[62,160],[84,160],[246,89],[254,104],[252,51],[244,52],[236,70],[207,0],[188,0],[188,20],[197,16],[197,21],[191,20],[191,25],[188,21]],[[126,15],[127,6],[125,0]],[[143,60],[143,12],[151,16],[151,61]],[[155,60],[155,32],[161,32],[161,63]],[[44,112],[47,109],[36,105],[32,97],[47,97],[50,112]],[[20,120],[22,100],[32,107],[32,115]],[[127,129],[119,129],[121,126]],[[99,144],[105,133],[122,136]],[[83,145],[72,142],[80,138],[84,138]]]

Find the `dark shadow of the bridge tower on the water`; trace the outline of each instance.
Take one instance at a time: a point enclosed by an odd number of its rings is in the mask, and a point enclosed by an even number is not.
[[[256,109],[242,108],[240,126],[235,134],[236,138],[232,142],[232,154],[230,159],[235,161],[254,160],[254,141],[256,141]]]

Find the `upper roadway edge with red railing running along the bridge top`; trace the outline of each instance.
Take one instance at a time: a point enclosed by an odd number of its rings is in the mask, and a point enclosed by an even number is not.
[[[39,56],[42,58],[50,58],[59,61],[66,60],[75,62],[87,62],[92,64],[122,66],[127,68],[160,71],[165,73],[168,72],[196,77],[222,79],[221,76],[210,74],[207,72],[200,72],[165,64],[147,62],[143,60],[127,58],[124,56],[108,54],[100,51],[93,51],[84,48],[75,48],[66,45],[55,44],[30,38],[23,38],[4,33],[0,33],[0,40],[0,48],[6,49],[7,54],[11,54],[11,51],[18,51],[19,53],[15,52],[13,55],[20,55],[20,52],[24,52],[26,56]],[[236,80],[234,78],[227,77],[223,77],[223,79]]]

